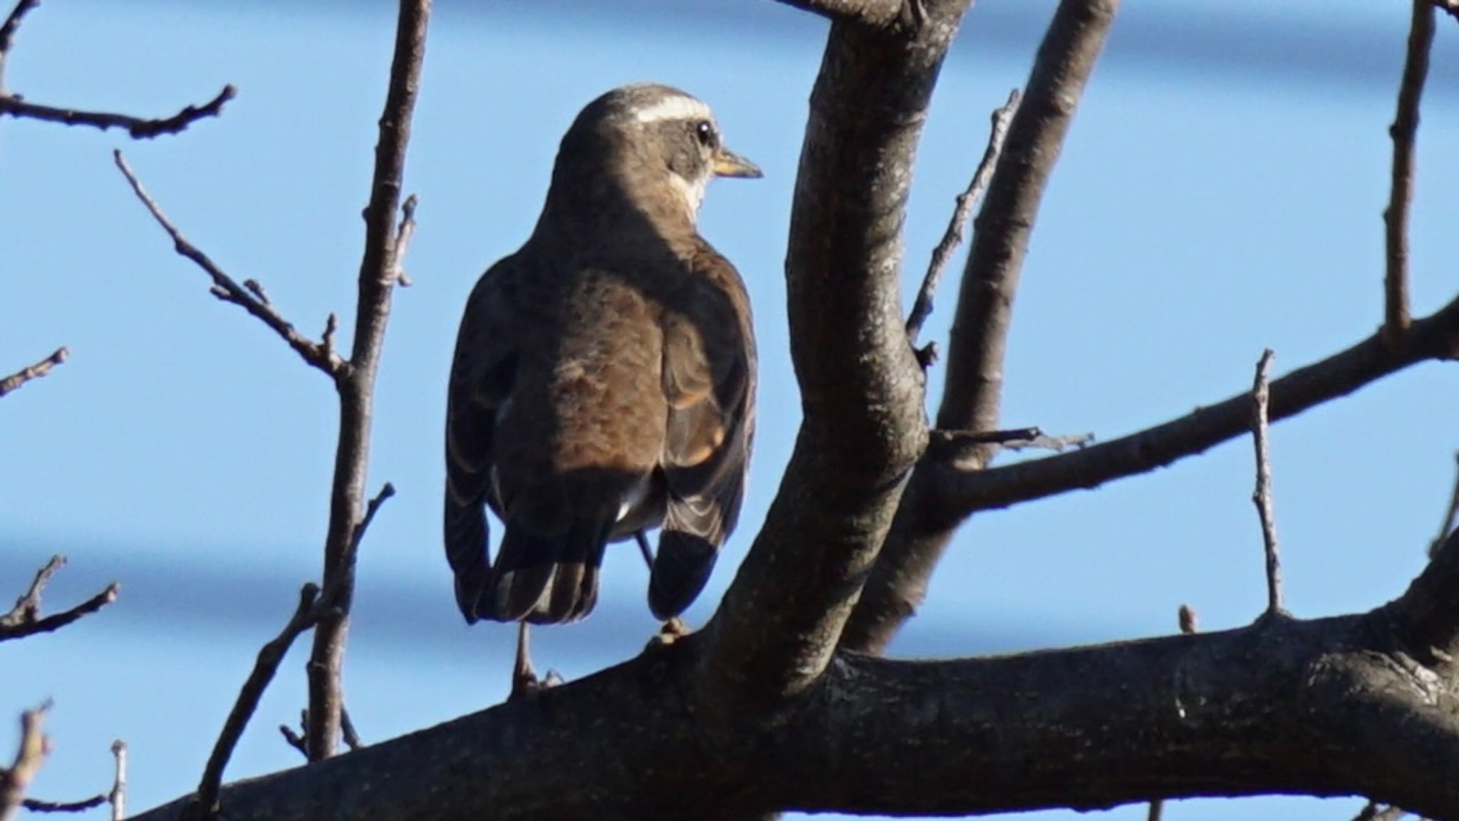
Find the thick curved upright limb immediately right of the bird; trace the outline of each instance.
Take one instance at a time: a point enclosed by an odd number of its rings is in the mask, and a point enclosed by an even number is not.
[[[728,701],[783,703],[820,675],[926,446],[924,374],[900,316],[902,224],[928,99],[966,7],[926,3],[915,34],[830,28],[785,269],[804,421],[708,628],[703,681]]]

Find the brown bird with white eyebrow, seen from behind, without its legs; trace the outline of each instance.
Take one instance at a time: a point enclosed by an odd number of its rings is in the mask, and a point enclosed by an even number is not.
[[[468,622],[562,622],[597,602],[608,542],[662,527],[658,618],[703,589],[754,434],[744,283],[699,235],[715,175],[759,177],[667,86],[588,104],[531,238],[477,282],[446,410],[446,558]],[[505,524],[496,561],[490,505]]]

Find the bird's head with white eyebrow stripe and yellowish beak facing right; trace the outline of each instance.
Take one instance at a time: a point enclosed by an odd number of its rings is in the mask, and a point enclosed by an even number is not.
[[[709,107],[670,86],[629,85],[589,102],[562,140],[553,188],[622,187],[636,206],[693,224],[715,177],[762,177],[725,148]]]

